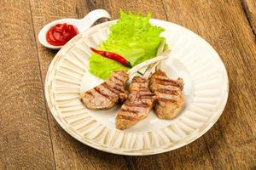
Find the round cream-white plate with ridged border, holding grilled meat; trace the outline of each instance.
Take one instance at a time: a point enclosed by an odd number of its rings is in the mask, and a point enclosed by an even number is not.
[[[160,120],[151,111],[136,126],[120,131],[114,126],[118,106],[110,111],[87,110],[79,95],[102,80],[90,75],[89,47],[108,37],[116,20],[94,26],[68,42],[49,65],[45,95],[55,120],[73,138],[98,150],[139,156],[175,150],[206,133],[224,111],[228,98],[228,77],[222,60],[204,39],[194,32],[163,20],[151,24],[162,33],[172,57],[162,68],[173,78],[183,77],[186,104],[172,121]],[[100,68],[99,68],[100,69]]]

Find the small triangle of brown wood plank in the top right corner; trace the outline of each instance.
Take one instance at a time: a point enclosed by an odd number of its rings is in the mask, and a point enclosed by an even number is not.
[[[241,0],[241,5],[247,14],[247,19],[256,36],[256,1],[255,0]]]

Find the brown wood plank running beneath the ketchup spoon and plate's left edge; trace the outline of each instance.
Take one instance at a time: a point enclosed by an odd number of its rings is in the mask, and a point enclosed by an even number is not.
[[[102,3],[103,4],[103,3]],[[90,6],[97,3],[88,1],[40,1],[31,0],[33,26],[38,35],[41,27],[51,20],[60,18],[82,18],[90,12]],[[103,8],[108,8],[103,7]],[[38,56],[41,65],[42,77],[45,80],[50,61],[55,56],[55,51],[42,47],[38,42]],[[49,126],[53,149],[55,153],[56,169],[125,169],[123,156],[111,155],[100,150],[95,150],[73,139],[66,133],[49,109]]]

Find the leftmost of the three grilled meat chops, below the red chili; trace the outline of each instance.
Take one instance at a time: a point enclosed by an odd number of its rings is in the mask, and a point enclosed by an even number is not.
[[[125,71],[114,71],[106,82],[90,89],[80,96],[84,105],[91,110],[110,109],[127,98],[125,83],[129,75]]]

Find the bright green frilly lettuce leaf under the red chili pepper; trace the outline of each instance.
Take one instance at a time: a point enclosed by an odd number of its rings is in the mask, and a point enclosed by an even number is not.
[[[137,65],[144,60],[154,58],[160,42],[164,37],[160,33],[164,31],[158,26],[149,23],[150,14],[143,17],[141,14],[125,14],[120,10],[120,19],[110,27],[110,34],[97,49],[113,52],[123,56]],[[108,78],[113,71],[126,70],[129,68],[118,62],[92,53],[90,57],[90,72],[102,79]]]

